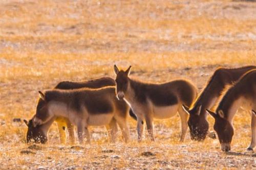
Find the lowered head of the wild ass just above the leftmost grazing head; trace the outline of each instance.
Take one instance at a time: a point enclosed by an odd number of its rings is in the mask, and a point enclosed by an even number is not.
[[[36,114],[33,118],[33,126],[36,127],[37,125],[41,125],[43,123],[48,122],[53,115],[49,114],[49,109],[48,109],[48,102],[46,100],[45,94],[42,93],[41,91],[39,92],[39,100],[37,102],[36,106]]]

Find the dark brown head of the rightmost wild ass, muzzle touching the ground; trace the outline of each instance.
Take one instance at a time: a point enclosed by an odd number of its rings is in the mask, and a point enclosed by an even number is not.
[[[225,152],[230,151],[230,143],[234,135],[233,126],[224,117],[222,110],[218,110],[217,114],[208,109],[206,109],[206,111],[215,119],[214,130],[217,132],[221,143],[221,150]]]

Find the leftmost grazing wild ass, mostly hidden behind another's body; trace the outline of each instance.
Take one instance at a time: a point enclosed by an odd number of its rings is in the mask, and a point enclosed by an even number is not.
[[[94,80],[84,81],[84,82],[69,82],[69,81],[60,82],[58,83],[57,86],[55,86],[55,89],[78,89],[83,87],[100,88],[100,87],[114,86],[114,85],[115,85],[114,79],[109,77],[104,77],[104,78],[99,78],[99,79],[94,79]],[[130,109],[130,115],[133,118],[134,117],[136,118],[136,116],[132,113],[131,109]],[[68,118],[56,117],[56,119],[53,118],[51,121],[47,122],[46,124],[38,125],[36,127],[32,125],[32,119],[30,119],[29,121],[24,120],[25,124],[28,126],[27,135],[26,135],[27,142],[34,141],[34,142],[45,143],[48,140],[47,132],[55,120],[55,122],[57,123],[58,131],[59,131],[60,143],[66,142],[65,130],[67,130],[69,133],[70,143],[74,143],[75,141],[74,127],[70,123]],[[110,125],[106,126],[106,129],[108,131],[108,136],[110,138],[110,141],[114,142],[116,137],[116,132],[117,132],[117,125],[115,123],[115,119],[112,120]]]

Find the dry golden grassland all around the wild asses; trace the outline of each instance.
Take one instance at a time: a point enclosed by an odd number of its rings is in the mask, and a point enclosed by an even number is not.
[[[187,134],[180,143],[178,115],[156,120],[156,142],[145,131],[138,143],[130,119],[130,143],[120,137],[110,144],[104,128],[95,127],[91,145],[73,147],[59,144],[55,125],[48,144],[30,147],[25,124],[13,122],[35,113],[38,90],[114,78],[114,64],[132,65],[131,76],[144,81],[185,78],[201,90],[219,66],[255,65],[255,13],[249,1],[1,1],[1,169],[255,168],[255,153],[245,152],[250,114],[241,109],[230,153],[220,151],[218,139],[195,142]]]

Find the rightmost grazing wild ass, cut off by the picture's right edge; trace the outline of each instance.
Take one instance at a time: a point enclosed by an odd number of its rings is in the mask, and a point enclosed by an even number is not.
[[[222,151],[230,151],[233,137],[232,120],[237,110],[243,106],[248,110],[256,109],[256,69],[246,72],[242,78],[232,85],[223,96],[216,113],[207,112],[215,118],[214,130],[217,132]],[[247,150],[256,145],[256,116],[251,113],[251,143]]]

